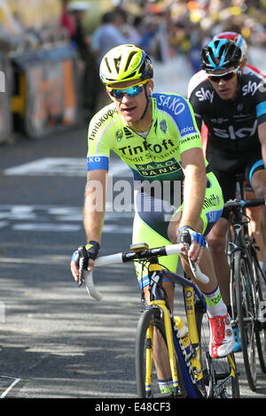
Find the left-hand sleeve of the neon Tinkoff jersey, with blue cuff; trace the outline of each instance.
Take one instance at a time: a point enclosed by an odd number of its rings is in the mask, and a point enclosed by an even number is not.
[[[98,169],[107,171],[109,167],[113,140],[113,114],[115,111],[108,107],[98,112],[90,120],[87,152],[88,172]]]

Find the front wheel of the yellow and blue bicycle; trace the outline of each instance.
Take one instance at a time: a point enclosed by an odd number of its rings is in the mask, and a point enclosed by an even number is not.
[[[163,394],[160,392],[158,385],[158,378],[156,372],[156,364],[158,359],[160,360],[161,372],[165,374],[169,373],[169,358],[168,352],[166,352],[164,359],[157,358],[157,351],[153,349],[153,342],[151,339],[147,338],[147,329],[153,327],[153,330],[156,331],[158,339],[160,339],[160,352],[168,351],[166,343],[166,335],[163,319],[160,317],[159,308],[150,308],[142,312],[140,319],[137,324],[137,336],[135,344],[135,369],[136,369],[136,382],[137,382],[137,397],[140,398],[162,398],[162,397],[177,397],[174,393]],[[151,382],[146,385],[146,349],[153,350],[153,359],[152,359],[152,372],[151,372]],[[178,389],[180,397],[185,396],[184,383],[182,379],[181,370],[176,359],[176,367],[178,374]]]

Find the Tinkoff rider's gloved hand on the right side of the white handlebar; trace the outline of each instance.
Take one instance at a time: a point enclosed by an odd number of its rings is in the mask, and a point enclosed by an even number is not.
[[[206,240],[203,235],[194,231],[191,227],[181,227],[178,230],[177,243],[183,243],[182,251],[194,263],[199,264],[202,249],[206,247]]]

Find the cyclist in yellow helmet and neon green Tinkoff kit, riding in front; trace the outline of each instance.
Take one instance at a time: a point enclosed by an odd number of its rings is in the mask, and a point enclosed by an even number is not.
[[[177,94],[153,94],[152,60],[134,45],[121,45],[107,52],[100,65],[100,78],[113,103],[90,120],[83,211],[88,241],[86,266],[89,270],[93,268],[99,252],[108,160],[113,150],[134,176],[136,215],[132,243],[147,243],[154,248],[181,242],[185,271],[193,278],[188,258],[200,265],[209,277],[207,284],[196,283],[207,300],[212,328],[210,354],[225,356],[234,344],[231,322],[205,246],[205,235],[223,212],[223,194],[203,156],[192,106]],[[181,191],[180,181],[183,201],[176,206],[175,192]],[[103,209],[95,209],[95,184],[101,189]],[[192,240],[188,251],[182,243],[184,235],[190,235]],[[75,281],[78,281],[79,259],[79,251],[75,251],[71,261]],[[173,255],[162,258],[160,263],[176,272],[177,260],[178,256]],[[142,266],[137,266],[136,272],[149,303],[147,273],[142,273]],[[173,306],[174,286],[170,281],[164,281],[164,285]]]

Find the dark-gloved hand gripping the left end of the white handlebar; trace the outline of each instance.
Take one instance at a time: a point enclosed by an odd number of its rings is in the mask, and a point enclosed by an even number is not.
[[[76,282],[82,284],[82,281],[84,281],[83,271],[91,271],[93,269],[94,260],[98,257],[99,249],[99,243],[90,242],[74,251],[70,268]]]

